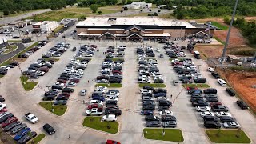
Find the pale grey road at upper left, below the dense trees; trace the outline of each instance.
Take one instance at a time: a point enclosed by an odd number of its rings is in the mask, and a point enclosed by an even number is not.
[[[47,11],[51,11],[51,10],[50,9],[44,9],[44,10],[33,11],[33,12],[30,12],[30,13],[27,13],[26,15],[22,14],[22,15],[18,15],[18,16],[14,16],[14,17],[1,18],[0,25],[4,25],[4,24],[11,23],[11,22],[19,21],[22,18],[31,17],[31,16],[33,16],[33,14],[42,14],[42,13],[45,13]]]

